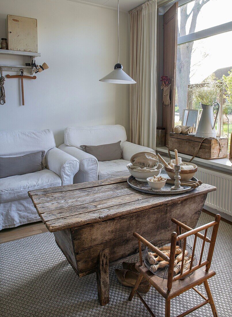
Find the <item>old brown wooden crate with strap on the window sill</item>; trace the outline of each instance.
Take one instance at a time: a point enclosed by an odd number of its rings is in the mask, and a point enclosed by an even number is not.
[[[220,153],[217,140],[205,139],[202,142],[202,145],[196,156],[201,159],[217,159],[227,157],[228,139],[218,139],[222,146],[222,151]],[[168,147],[170,151],[177,149],[179,153],[194,155],[202,140],[203,138],[171,132],[169,133]]]

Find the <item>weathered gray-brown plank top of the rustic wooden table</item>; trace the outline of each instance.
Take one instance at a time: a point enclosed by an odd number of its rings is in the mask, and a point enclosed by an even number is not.
[[[50,232],[80,227],[198,196],[216,187],[202,184],[180,195],[153,195],[131,188],[127,177],[29,191]]]

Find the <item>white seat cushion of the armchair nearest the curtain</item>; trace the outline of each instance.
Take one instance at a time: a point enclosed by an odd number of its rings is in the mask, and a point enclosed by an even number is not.
[[[116,178],[130,176],[127,164],[130,161],[124,159],[115,159],[112,161],[98,162],[98,179]]]

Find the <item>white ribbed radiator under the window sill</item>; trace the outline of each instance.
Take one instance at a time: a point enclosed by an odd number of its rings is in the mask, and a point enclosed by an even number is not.
[[[208,193],[205,205],[232,216],[232,176],[198,166],[195,177],[217,188]]]

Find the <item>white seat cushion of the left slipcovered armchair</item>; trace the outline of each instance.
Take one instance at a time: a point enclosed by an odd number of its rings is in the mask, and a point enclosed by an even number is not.
[[[0,201],[7,202],[28,197],[28,191],[61,186],[60,177],[53,171],[42,171],[0,178]]]

